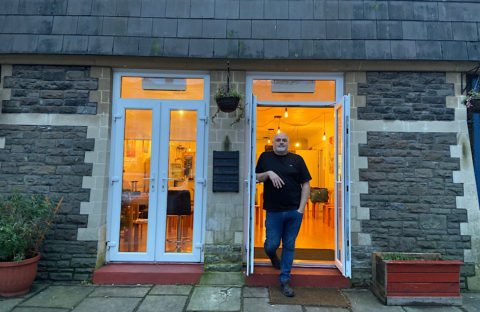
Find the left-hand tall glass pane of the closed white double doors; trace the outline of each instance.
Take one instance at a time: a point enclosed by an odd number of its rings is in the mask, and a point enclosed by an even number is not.
[[[152,111],[125,110],[120,252],[146,252]]]

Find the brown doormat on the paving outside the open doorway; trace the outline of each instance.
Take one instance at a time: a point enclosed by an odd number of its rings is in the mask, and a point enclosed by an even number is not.
[[[301,304],[315,306],[344,307],[350,306],[348,300],[337,288],[293,287],[294,297],[285,297],[280,286],[270,286],[270,304]]]

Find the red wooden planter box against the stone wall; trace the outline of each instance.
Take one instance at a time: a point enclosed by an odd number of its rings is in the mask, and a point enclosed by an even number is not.
[[[385,254],[392,253],[372,254],[372,291],[386,305],[462,304],[462,261],[444,261],[433,253],[402,253],[424,260],[382,260]]]

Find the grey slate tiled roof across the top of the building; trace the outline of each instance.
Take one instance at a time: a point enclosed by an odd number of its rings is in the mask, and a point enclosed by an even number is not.
[[[479,0],[1,0],[0,53],[480,61]]]

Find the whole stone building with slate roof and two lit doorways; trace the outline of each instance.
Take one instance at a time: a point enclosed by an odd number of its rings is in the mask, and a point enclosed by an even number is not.
[[[39,279],[114,279],[116,263],[138,262],[177,276],[159,283],[276,274],[252,176],[280,130],[328,194],[311,195],[294,279],[308,267],[366,285],[373,251],[440,252],[480,289],[462,102],[480,61],[477,1],[2,4],[0,193],[65,198]],[[230,113],[214,99],[227,80],[244,95]]]

